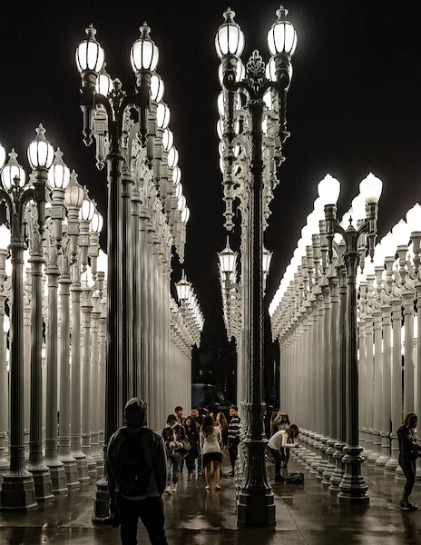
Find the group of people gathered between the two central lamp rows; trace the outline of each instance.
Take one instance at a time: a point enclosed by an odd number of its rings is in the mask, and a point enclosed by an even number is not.
[[[230,407],[230,421],[223,412],[202,416],[197,407],[191,414],[183,416],[183,408],[178,405],[174,413],[169,414],[162,430],[162,439],[168,457],[168,479],[165,492],[177,491],[179,475],[184,466],[187,480],[191,481],[193,472],[204,473],[205,490],[210,490],[210,475],[213,473],[215,490],[220,490],[220,465],[227,451],[230,456],[231,471],[226,475],[234,476],[235,461],[240,443],[240,417],[238,407]]]

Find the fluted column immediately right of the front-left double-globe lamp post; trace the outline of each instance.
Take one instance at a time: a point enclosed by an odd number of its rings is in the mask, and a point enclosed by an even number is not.
[[[32,233],[31,263],[32,315],[31,315],[31,422],[29,439],[29,462],[35,485],[35,500],[54,500],[51,473],[43,458],[43,251],[40,235],[35,223]],[[55,413],[54,420],[57,418]],[[56,423],[56,421],[55,421]]]

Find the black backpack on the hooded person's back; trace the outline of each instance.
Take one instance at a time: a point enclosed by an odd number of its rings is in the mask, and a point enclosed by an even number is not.
[[[148,464],[142,438],[152,433],[149,428],[142,428],[138,433],[131,433],[121,428],[122,446],[117,457],[115,481],[122,496],[129,498],[142,496],[148,490],[152,467]]]

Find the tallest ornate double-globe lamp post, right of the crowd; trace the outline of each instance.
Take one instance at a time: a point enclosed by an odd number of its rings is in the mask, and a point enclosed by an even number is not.
[[[221,59],[224,122],[223,144],[225,146],[223,162],[224,184],[226,186],[225,200],[227,203],[227,228],[232,228],[230,218],[232,216],[233,183],[232,164],[234,159],[234,144],[236,136],[236,119],[234,108],[238,100],[238,92],[245,98],[244,109],[250,115],[250,150],[251,163],[246,173],[248,207],[244,207],[246,217],[243,218],[246,230],[246,244],[248,252],[243,256],[245,267],[249,271],[247,282],[247,319],[250,324],[250,343],[247,346],[248,353],[245,362],[250,362],[248,395],[248,421],[249,427],[245,445],[247,456],[245,461],[243,480],[240,485],[240,494],[237,505],[237,522],[247,526],[269,526],[276,522],[275,503],[273,492],[270,488],[266,474],[265,444],[263,440],[262,426],[262,378],[263,378],[263,275],[262,275],[262,232],[263,232],[263,185],[269,180],[263,179],[264,157],[263,145],[263,114],[267,109],[264,96],[268,90],[273,94],[273,103],[277,104],[278,119],[269,120],[275,124],[277,121],[277,133],[279,135],[276,145],[278,156],[272,153],[269,160],[270,179],[275,177],[276,161],[281,163],[281,148],[289,136],[286,128],[286,99],[292,75],[291,56],[297,45],[297,34],[294,27],[285,20],[287,10],[281,7],[278,12],[278,20],[272,25],[268,34],[268,44],[273,58],[269,62],[269,78],[265,77],[265,64],[258,51],[254,51],[247,64],[245,78],[240,74],[240,54],[244,48],[244,35],[240,26],[234,22],[234,12],[228,9],[224,13],[225,21],[218,30],[215,39],[217,54]],[[274,107],[275,109],[275,107]],[[268,120],[266,120],[268,122]],[[266,169],[265,169],[266,173]],[[265,175],[266,178],[266,175]],[[248,192],[248,193],[247,193]],[[266,219],[266,218],[265,218]]]

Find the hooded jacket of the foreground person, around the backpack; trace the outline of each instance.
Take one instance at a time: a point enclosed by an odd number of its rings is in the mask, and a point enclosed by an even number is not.
[[[119,451],[124,441],[122,430],[130,433],[143,431],[139,441],[143,442],[146,459],[152,468],[148,489],[141,497],[129,498],[130,500],[144,500],[161,496],[167,482],[167,456],[165,445],[159,433],[146,427],[146,403],[139,398],[127,401],[124,407],[124,426],[113,433],[107,448],[107,475],[110,500],[115,504],[116,494],[119,490],[116,485],[115,472],[118,467]]]

